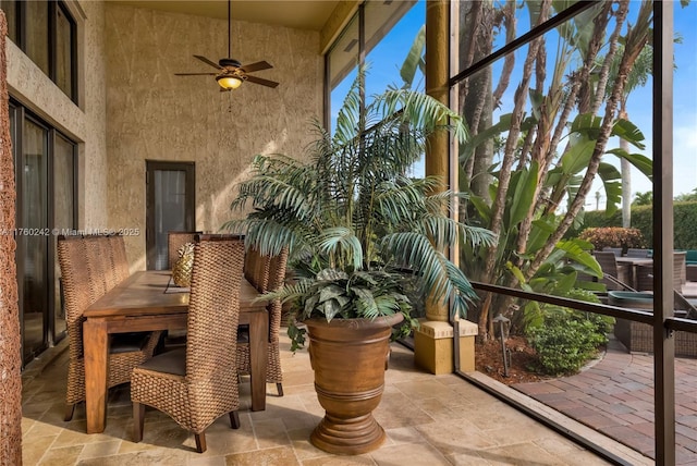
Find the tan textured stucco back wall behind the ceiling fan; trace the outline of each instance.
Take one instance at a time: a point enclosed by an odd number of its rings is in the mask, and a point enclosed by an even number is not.
[[[321,118],[319,34],[234,22],[232,56],[274,68],[255,75],[276,89],[245,83],[220,93],[194,59],[227,56],[227,21],[107,4],[107,150],[111,228],[145,231],[146,160],[196,163],[196,228],[217,231],[232,218],[234,188],[256,154],[301,156],[308,122]],[[145,235],[126,238],[129,259],[145,268]]]

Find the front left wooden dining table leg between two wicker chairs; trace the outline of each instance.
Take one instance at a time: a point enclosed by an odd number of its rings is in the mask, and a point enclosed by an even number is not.
[[[87,433],[105,431],[107,420],[108,339],[106,322],[86,320],[83,324]]]

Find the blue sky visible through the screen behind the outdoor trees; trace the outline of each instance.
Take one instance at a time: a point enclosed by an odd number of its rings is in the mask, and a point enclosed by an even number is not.
[[[675,5],[675,34],[682,38],[682,44],[675,44],[675,74],[674,74],[674,194],[689,193],[697,187],[697,1],[693,0],[686,8],[681,8],[678,1]],[[631,10],[636,12],[639,2],[634,1]],[[388,84],[401,82],[399,66],[406,57],[408,47],[416,36],[419,27],[425,22],[425,1],[420,0],[414,5],[398,25],[386,36],[382,42],[374,49],[367,58],[369,62],[369,74],[367,77],[367,94],[375,94],[383,90]],[[522,22],[521,22],[522,23]],[[523,30],[523,25],[518,28]],[[519,62],[521,60],[518,60]],[[350,84],[352,75],[345,79]],[[341,103],[341,98],[345,95],[346,88],[341,86],[332,93],[332,110],[335,111]],[[423,89],[423,77],[418,82]],[[508,94],[512,96],[514,86],[511,85]],[[508,97],[504,96],[504,100]],[[512,99],[510,99],[512,101]],[[637,88],[629,96],[627,101],[629,120],[636,124],[646,137],[647,149],[639,151],[651,158],[652,135],[651,135],[651,79],[643,88]],[[613,142],[610,147],[616,147]],[[609,156],[607,161],[619,167],[616,158]],[[415,174],[423,172],[423,168],[417,167]],[[589,195],[588,203],[595,207],[595,192],[600,192],[600,205],[604,206],[604,193],[601,183],[594,185],[594,191]],[[651,191],[651,182],[638,171],[632,171],[632,193]],[[589,208],[594,208],[589,207]]]

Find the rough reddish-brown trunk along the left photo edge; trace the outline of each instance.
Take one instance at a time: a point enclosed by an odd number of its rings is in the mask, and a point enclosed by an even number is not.
[[[0,10],[0,228],[14,230],[15,186],[8,96],[5,35],[8,22]],[[22,355],[17,281],[12,234],[0,235],[0,465],[22,464]]]

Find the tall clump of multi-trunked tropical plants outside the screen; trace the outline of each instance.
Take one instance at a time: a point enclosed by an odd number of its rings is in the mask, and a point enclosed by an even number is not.
[[[460,49],[472,53],[461,63],[463,70],[490,54],[496,38],[510,42],[518,36],[518,7],[527,9],[534,27],[575,2],[465,3]],[[631,7],[637,11],[628,24]],[[468,277],[536,289],[536,283],[554,287],[554,282],[567,280],[564,268],[572,263],[575,272],[596,275],[597,262],[592,266],[585,242],[563,238],[583,224],[585,201],[597,177],[608,214],[617,209],[621,173],[608,157],[627,160],[651,175],[645,156],[608,147],[616,136],[635,149],[645,148],[643,133],[620,110],[625,89],[633,85],[629,72],[648,47],[651,22],[650,1],[589,2],[554,34],[538,36],[504,56],[498,83],[492,66],[460,83],[460,111],[472,133],[460,146],[460,188],[472,192],[463,213],[499,236],[496,247],[462,248],[461,263]],[[494,34],[482,33],[487,30]],[[517,83],[514,72],[519,73]],[[499,107],[512,84],[505,112]],[[555,266],[560,259],[561,268]],[[584,285],[577,281],[571,287]],[[494,309],[515,312],[512,303],[505,296],[486,295],[478,309],[480,335],[490,334]]]

